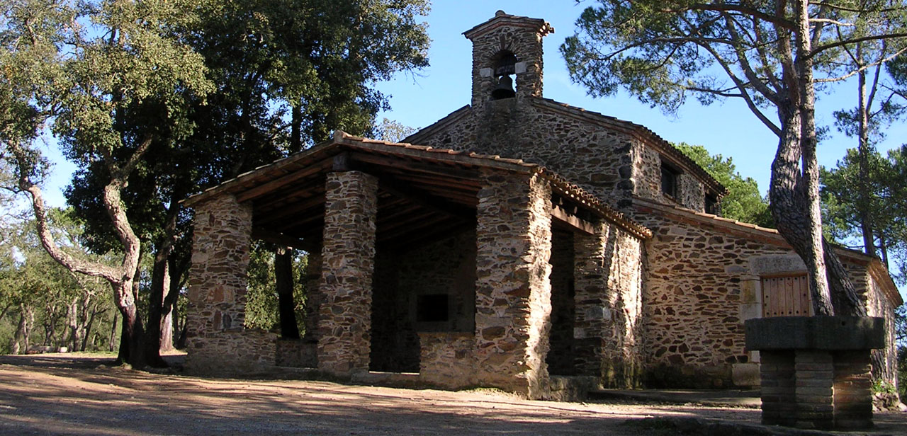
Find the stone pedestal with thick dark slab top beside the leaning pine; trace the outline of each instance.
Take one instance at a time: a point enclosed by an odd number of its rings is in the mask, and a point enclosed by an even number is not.
[[[746,347],[762,357],[762,421],[804,429],[872,427],[870,356],[885,346],[884,322],[865,316],[746,320]]]

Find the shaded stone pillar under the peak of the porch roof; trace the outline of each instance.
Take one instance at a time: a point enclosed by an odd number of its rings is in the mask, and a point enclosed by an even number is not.
[[[359,171],[333,172],[325,185],[325,228],[318,291],[318,369],[368,372],[378,181]]]

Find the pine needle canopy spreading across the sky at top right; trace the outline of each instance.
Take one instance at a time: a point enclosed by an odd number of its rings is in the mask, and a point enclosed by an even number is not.
[[[838,43],[898,34],[904,24],[899,1],[808,7],[811,18],[826,20],[811,25],[810,35],[816,78],[825,76],[820,85],[849,71],[853,44]],[[773,121],[761,111],[795,84],[784,77],[782,64],[796,45],[798,19],[793,2],[598,0],[582,12],[577,34],[565,40],[561,54],[571,79],[593,96],[622,88],[669,113],[690,96],[703,104],[742,98],[767,125]],[[866,39],[863,52],[883,40],[888,53],[903,45],[896,38]]]

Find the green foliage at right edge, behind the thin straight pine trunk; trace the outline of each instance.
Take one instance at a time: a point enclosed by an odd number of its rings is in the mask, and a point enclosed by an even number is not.
[[[907,146],[889,150],[887,156],[870,150],[866,179],[860,177],[858,159],[857,150],[847,150],[834,169],[821,170],[824,230],[844,244],[862,242],[861,211],[869,211],[876,248],[893,278],[907,283]],[[866,199],[859,195],[861,183],[867,186]]]

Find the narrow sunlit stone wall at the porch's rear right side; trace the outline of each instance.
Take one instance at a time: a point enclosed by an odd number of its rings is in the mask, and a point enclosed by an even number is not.
[[[580,375],[605,387],[639,387],[643,362],[642,246],[616,226],[574,236],[576,323]]]

